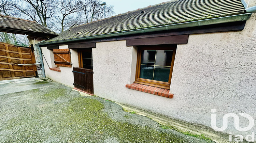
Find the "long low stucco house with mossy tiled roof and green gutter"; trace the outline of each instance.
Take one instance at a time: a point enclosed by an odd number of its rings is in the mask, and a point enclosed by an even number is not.
[[[218,127],[227,113],[256,118],[256,15],[246,8],[241,0],[177,0],[72,27],[38,44],[46,77],[206,127],[211,114]],[[226,134],[255,129],[238,131],[231,120]]]

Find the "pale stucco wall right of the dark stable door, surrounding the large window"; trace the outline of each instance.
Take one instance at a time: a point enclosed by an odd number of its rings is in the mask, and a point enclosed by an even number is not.
[[[226,113],[247,113],[256,119],[256,15],[242,31],[189,35],[178,45],[170,93],[173,99],[125,88],[134,81],[137,50],[126,41],[96,43],[93,49],[94,93],[97,96],[164,114],[183,121],[211,126],[211,109],[217,126]],[[224,132],[250,134],[234,129]],[[248,125],[240,117],[240,126]]]

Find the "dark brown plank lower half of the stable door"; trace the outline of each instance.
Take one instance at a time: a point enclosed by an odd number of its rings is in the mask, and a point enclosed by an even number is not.
[[[74,86],[90,94],[93,93],[93,70],[73,67]]]

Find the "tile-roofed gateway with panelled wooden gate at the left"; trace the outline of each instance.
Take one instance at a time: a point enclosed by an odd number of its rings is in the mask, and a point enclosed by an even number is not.
[[[0,31],[27,35],[30,45],[56,37],[58,34],[35,21],[0,14]],[[0,80],[36,77],[43,75],[40,66],[17,65],[42,63],[39,49],[0,43]]]

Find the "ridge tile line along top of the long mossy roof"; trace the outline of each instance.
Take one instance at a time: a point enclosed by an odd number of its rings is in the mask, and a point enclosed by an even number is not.
[[[88,25],[88,24],[90,24],[90,23],[103,21],[103,20],[110,19],[110,18],[113,18],[113,17],[118,17],[118,16],[125,15],[125,14],[131,13],[131,12],[136,12],[136,11],[139,11],[139,10],[144,10],[144,9],[146,9],[146,8],[149,8],[149,7],[153,7],[153,6],[157,6],[157,5],[161,5],[161,4],[165,4],[165,3],[169,3],[169,2],[174,2],[174,1],[178,1],[178,0],[169,0],[169,1],[166,1],[166,2],[158,3],[158,4],[149,5],[149,6],[146,6],[146,7],[141,8],[141,9],[139,8],[139,9],[137,9],[137,10],[128,11],[128,12],[122,13],[122,14],[120,13],[120,14],[118,14],[118,15],[114,15],[114,16],[107,17],[107,18],[104,18],[104,19],[99,19],[99,20],[96,20],[96,21],[92,21],[92,22],[88,22],[88,23],[81,24],[81,25],[73,26],[73,27],[70,27],[69,29],[75,28],[75,27],[84,26],[84,25]]]

